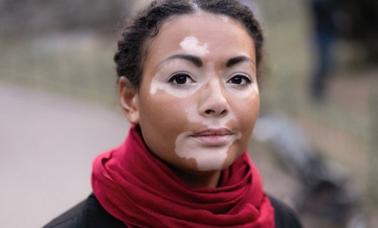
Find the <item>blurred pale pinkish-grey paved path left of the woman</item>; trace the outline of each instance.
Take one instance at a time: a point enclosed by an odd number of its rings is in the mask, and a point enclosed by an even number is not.
[[[0,81],[0,227],[42,227],[91,192],[91,163],[126,137],[117,107]]]

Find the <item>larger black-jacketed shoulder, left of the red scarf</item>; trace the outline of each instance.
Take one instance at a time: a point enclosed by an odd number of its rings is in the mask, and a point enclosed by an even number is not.
[[[125,228],[125,225],[106,212],[91,194],[76,206],[59,215],[43,228]]]

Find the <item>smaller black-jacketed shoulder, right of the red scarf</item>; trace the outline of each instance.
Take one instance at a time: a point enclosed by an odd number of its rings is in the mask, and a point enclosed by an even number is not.
[[[300,219],[292,208],[275,197],[268,196],[272,207],[275,209],[275,228],[302,228]]]

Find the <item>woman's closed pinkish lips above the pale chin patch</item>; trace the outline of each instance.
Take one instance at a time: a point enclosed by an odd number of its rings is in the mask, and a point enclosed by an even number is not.
[[[191,135],[196,141],[208,146],[227,145],[234,133],[228,128],[206,129]]]

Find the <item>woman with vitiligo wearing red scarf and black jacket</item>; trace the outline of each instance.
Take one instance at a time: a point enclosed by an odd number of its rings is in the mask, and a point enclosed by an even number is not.
[[[132,123],[93,163],[93,194],[46,227],[300,227],[245,150],[262,31],[237,1],[154,1],[115,56]]]

